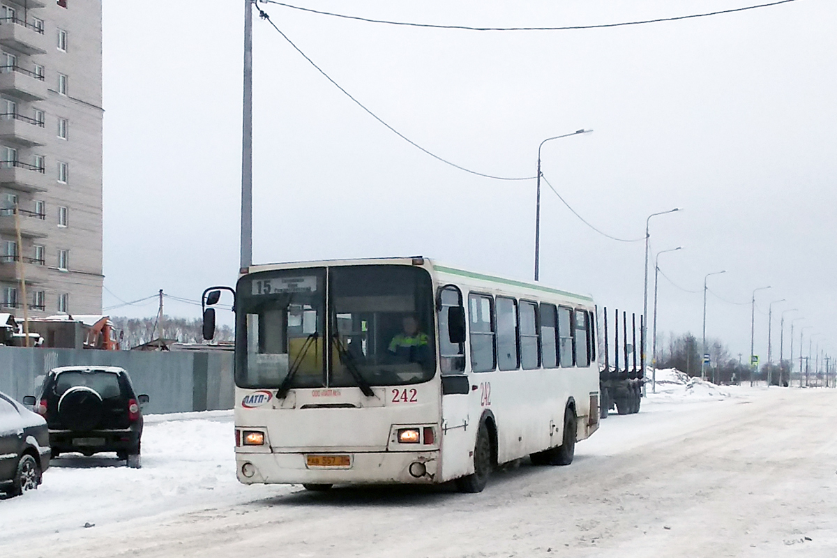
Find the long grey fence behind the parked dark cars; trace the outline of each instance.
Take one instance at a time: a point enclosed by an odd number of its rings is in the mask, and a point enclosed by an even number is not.
[[[143,412],[231,409],[234,403],[232,352],[90,351],[0,346],[0,392],[15,400],[35,395],[43,376],[56,366],[121,366],[137,394],[151,402]]]

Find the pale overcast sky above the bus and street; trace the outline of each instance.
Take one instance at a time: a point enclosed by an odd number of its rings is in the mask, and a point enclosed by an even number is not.
[[[566,26],[739,8],[754,0],[300,4],[367,18]],[[104,305],[198,299],[239,268],[244,6],[104,3]],[[837,343],[837,3],[591,30],[390,27],[259,4],[308,56],[398,131],[476,171],[542,170],[594,226],[660,257],[660,332],[767,360],[768,304]],[[642,311],[644,244],[603,237],[544,184],[542,283]],[[475,177],[373,120],[254,18],[254,261],[424,254],[531,279],[535,182]],[[696,291],[685,292],[682,289]],[[111,294],[112,293],[112,294]],[[722,297],[729,302],[718,298]],[[744,304],[731,304],[744,303]],[[110,310],[153,315],[150,304]],[[167,313],[199,308],[167,301]],[[651,313],[649,303],[649,314]],[[821,346],[825,342],[821,343]],[[804,341],[808,350],[808,340]]]

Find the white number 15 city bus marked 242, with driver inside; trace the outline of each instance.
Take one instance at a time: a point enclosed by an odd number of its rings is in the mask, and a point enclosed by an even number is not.
[[[242,483],[455,480],[478,492],[501,463],[570,463],[598,428],[588,296],[421,257],[246,272],[235,289]],[[211,336],[212,308],[204,318]],[[398,335],[413,345],[396,347]]]

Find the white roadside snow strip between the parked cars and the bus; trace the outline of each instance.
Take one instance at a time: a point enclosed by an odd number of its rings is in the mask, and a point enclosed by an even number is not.
[[[145,422],[142,468],[126,468],[116,453],[63,454],[50,462],[39,489],[0,501],[0,548],[47,533],[72,535],[85,524],[182,514],[293,490],[235,478],[232,411],[149,415]]]

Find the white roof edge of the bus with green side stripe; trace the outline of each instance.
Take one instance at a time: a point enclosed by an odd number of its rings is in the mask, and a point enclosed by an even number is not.
[[[483,274],[474,271],[468,271],[465,269],[459,269],[454,267],[449,267],[442,264],[437,264],[434,260],[425,258],[424,256],[409,256],[409,257],[393,257],[393,258],[357,258],[357,259],[329,259],[329,260],[316,260],[316,261],[307,261],[307,262],[287,262],[282,264],[261,264],[261,265],[251,265],[247,268],[246,273],[256,273],[259,271],[270,271],[274,269],[294,269],[294,268],[311,268],[311,267],[330,267],[330,266],[337,266],[337,265],[375,265],[375,264],[388,264],[388,265],[415,265],[415,266],[422,266],[426,269],[435,271],[439,274],[449,274],[449,275],[457,275],[459,277],[464,277],[466,279],[475,279],[477,281],[494,283],[498,285],[507,285],[516,288],[522,289],[531,289],[534,291],[539,291],[542,293],[550,293],[550,294],[558,294],[561,296],[566,296],[573,299],[583,300],[584,302],[592,303],[593,297],[587,294],[576,294],[571,293],[566,290],[555,289],[552,287],[547,287],[540,283],[534,283],[530,281],[521,281],[519,279],[510,279],[506,277],[500,277],[497,275],[490,275],[490,274]],[[244,269],[242,269],[244,271]]]

